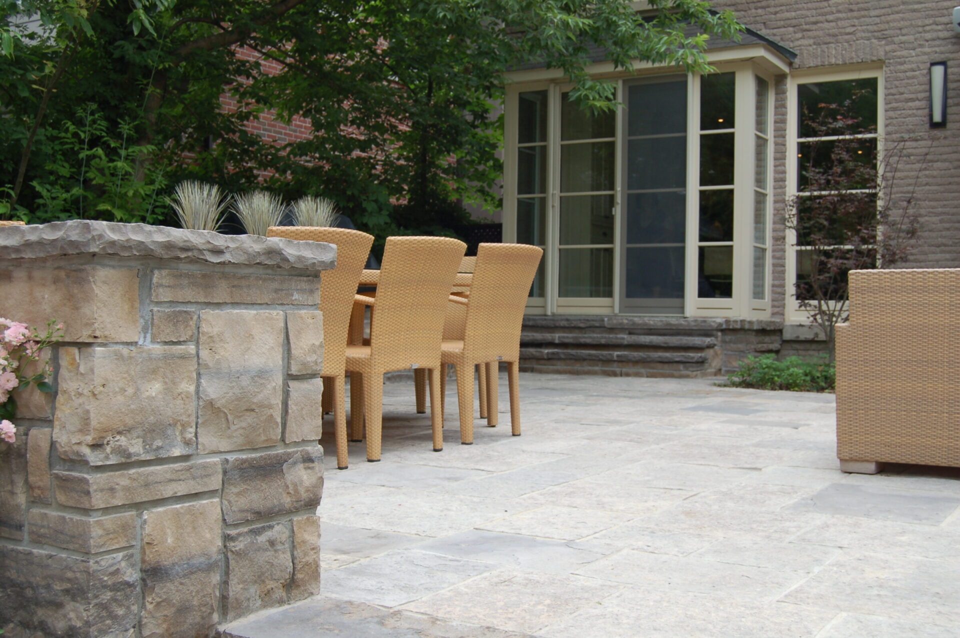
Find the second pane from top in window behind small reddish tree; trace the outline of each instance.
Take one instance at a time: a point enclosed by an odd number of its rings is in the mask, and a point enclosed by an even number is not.
[[[801,190],[876,188],[876,138],[847,138],[797,145]]]

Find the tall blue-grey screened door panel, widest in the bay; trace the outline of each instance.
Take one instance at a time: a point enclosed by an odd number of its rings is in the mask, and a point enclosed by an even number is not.
[[[682,315],[686,243],[686,78],[624,85],[620,311]]]

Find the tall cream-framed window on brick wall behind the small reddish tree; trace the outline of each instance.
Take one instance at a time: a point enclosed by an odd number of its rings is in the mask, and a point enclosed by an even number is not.
[[[804,318],[804,302],[813,296],[804,281],[814,276],[820,278],[818,287],[827,298],[836,298],[837,286],[847,273],[833,268],[832,258],[853,252],[868,262],[876,259],[870,246],[854,248],[845,240],[857,225],[876,224],[881,86],[879,70],[855,77],[815,76],[795,83],[796,159],[788,184],[796,198],[790,211],[795,220],[788,223],[787,242],[792,248],[787,265],[788,298],[795,300],[788,309],[792,319]]]

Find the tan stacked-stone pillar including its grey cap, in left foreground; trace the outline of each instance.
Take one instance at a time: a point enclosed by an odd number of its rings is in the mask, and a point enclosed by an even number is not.
[[[0,457],[4,624],[208,635],[317,594],[335,248],[91,222],[0,248],[0,315],[66,331]]]

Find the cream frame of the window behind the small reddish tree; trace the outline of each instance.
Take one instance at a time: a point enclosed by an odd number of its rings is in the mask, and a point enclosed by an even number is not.
[[[883,80],[882,64],[858,64],[855,66],[846,66],[830,69],[811,69],[808,71],[797,71],[790,76],[789,87],[787,90],[787,121],[786,121],[786,199],[791,201],[798,193],[797,189],[797,153],[800,144],[798,137],[798,124],[800,122],[799,106],[797,106],[797,96],[800,84],[818,83],[818,82],[842,82],[845,80],[864,80],[867,78],[876,78],[876,159],[883,156],[883,131],[884,131],[884,103],[885,91]],[[865,136],[866,137],[866,136]],[[797,280],[797,233],[795,230],[785,228],[785,294],[784,294],[784,322],[795,324],[809,324],[810,310],[804,310],[800,307],[800,301],[797,299],[794,282]]]

